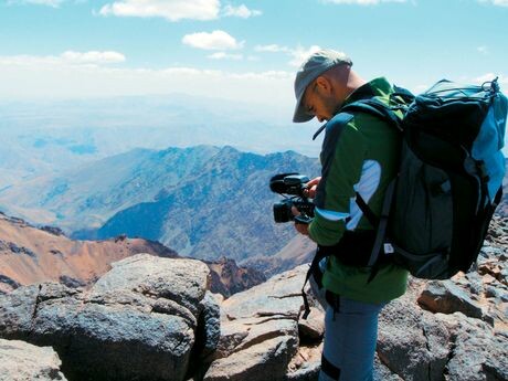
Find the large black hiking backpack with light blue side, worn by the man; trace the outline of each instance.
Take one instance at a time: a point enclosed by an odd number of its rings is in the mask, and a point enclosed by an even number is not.
[[[371,267],[369,281],[387,261],[426,279],[449,278],[476,262],[502,197],[507,98],[497,78],[481,86],[443,80],[416,97],[394,91],[389,106],[370,98],[340,110],[374,115],[403,136],[399,173],[387,189],[380,218],[357,194],[375,233],[358,240],[353,232],[335,252],[319,247],[307,279],[319,273],[324,257],[340,258],[343,246],[361,244],[364,251],[366,242],[370,255],[356,255],[363,258],[356,264]]]

